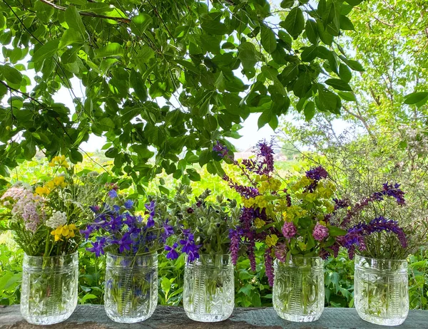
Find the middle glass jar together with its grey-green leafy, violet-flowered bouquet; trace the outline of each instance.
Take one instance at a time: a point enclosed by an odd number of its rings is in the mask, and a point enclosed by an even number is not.
[[[213,322],[227,319],[235,305],[233,262],[238,258],[235,234],[240,209],[235,200],[222,195],[215,202],[208,200],[210,190],[190,201],[192,189],[179,185],[169,200],[165,216],[177,227],[165,246],[167,257],[178,258],[181,251],[187,257],[184,271],[183,305],[190,319]],[[231,251],[231,255],[229,254]]]

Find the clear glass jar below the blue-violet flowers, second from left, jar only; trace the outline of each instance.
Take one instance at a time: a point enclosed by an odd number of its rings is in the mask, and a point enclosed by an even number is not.
[[[111,320],[136,323],[147,320],[158,305],[158,254],[107,254],[104,308]]]

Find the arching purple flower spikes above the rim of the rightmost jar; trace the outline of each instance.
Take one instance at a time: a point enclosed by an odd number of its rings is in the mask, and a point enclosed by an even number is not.
[[[397,183],[383,184],[378,191],[351,204],[349,199],[336,201],[337,222],[346,228],[341,244],[350,258],[355,253],[377,259],[407,258],[427,244],[427,221],[415,218],[408,223],[404,216],[412,216],[407,209],[404,192]]]

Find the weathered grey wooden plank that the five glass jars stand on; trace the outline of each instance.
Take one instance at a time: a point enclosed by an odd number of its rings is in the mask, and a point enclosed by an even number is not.
[[[372,325],[361,320],[353,308],[326,308],[320,320],[312,323],[292,323],[279,318],[273,308],[235,308],[233,315],[219,323],[199,323],[189,320],[183,308],[158,306],[153,316],[141,323],[121,324],[110,320],[101,305],[78,305],[71,318],[56,325],[30,325],[21,317],[19,305],[0,308],[0,329],[210,329],[210,328],[332,328],[332,329],[370,329],[388,328]],[[398,327],[391,328],[428,328],[428,311],[411,310],[407,320]]]

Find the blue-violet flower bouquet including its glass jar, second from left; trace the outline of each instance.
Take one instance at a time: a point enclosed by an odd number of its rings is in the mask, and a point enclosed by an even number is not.
[[[156,216],[154,200],[138,211],[136,203],[118,194],[116,186],[106,202],[91,210],[93,221],[81,234],[91,239],[87,251],[107,256],[107,315],[120,323],[150,318],[158,300],[158,251],[174,233],[173,227]]]

